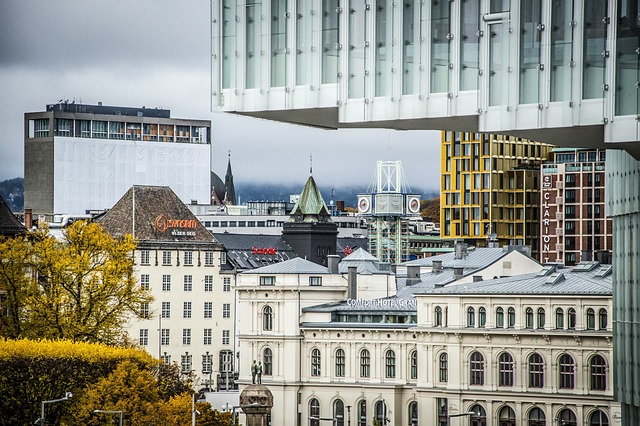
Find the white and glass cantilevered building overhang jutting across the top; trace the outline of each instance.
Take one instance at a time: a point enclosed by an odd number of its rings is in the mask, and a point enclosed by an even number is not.
[[[211,7],[211,96],[223,111],[327,128],[505,133],[564,146],[640,139],[636,1]]]

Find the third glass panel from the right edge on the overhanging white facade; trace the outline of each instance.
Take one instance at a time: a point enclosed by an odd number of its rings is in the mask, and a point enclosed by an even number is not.
[[[553,3],[551,14],[551,67],[549,70],[551,102],[571,100],[573,74],[573,0]]]

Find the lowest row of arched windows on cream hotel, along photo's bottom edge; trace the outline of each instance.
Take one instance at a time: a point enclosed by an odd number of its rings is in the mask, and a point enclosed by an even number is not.
[[[350,407],[349,407],[350,408]],[[367,413],[367,401],[366,399],[362,399],[355,404],[355,416],[356,416],[356,425],[357,426],[366,426],[368,416],[371,414]],[[407,421],[411,426],[418,426],[421,424],[419,422],[420,417],[418,416],[418,402],[411,401],[407,406]],[[390,424],[390,421],[387,416],[387,406],[384,400],[376,401],[373,406],[373,419],[380,422],[382,425]],[[475,413],[475,415],[469,416],[469,423],[471,426],[487,426],[487,412],[485,408],[480,404],[475,404],[466,411],[467,413]],[[347,410],[347,416],[351,414],[351,410]],[[559,424],[563,426],[577,426],[577,416],[573,410],[570,408],[562,409],[555,419],[549,419],[549,423],[547,423],[547,416],[545,411],[539,407],[533,407],[526,414],[527,416],[527,425],[528,426],[551,426],[555,424],[557,421]],[[326,417],[326,414],[325,414]],[[317,398],[312,398],[309,400],[309,426],[320,426],[321,419],[321,409],[320,409],[320,401]],[[344,401],[341,399],[336,399],[333,401],[333,416],[332,419],[334,421],[335,426],[344,426],[345,425],[345,410],[344,410]],[[424,419],[424,416],[423,416]],[[446,426],[449,425],[449,411],[448,411],[448,401],[446,398],[438,398],[438,413],[437,413],[437,425],[438,426]],[[609,426],[609,417],[607,414],[600,410],[596,409],[590,412],[587,415],[588,426]],[[351,419],[347,419],[346,424],[351,424]],[[402,423],[407,424],[407,423]],[[425,422],[424,424],[433,424],[433,420]],[[516,426],[516,413],[513,408],[509,405],[504,405],[498,410],[498,424],[500,426]]]

